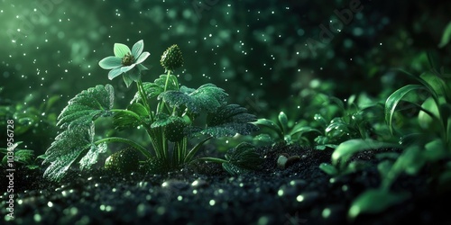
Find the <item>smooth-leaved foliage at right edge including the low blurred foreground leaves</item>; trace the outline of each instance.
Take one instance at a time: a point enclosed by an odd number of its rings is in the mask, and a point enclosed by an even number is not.
[[[369,149],[400,148],[400,153],[377,153],[381,162],[377,168],[382,182],[378,188],[368,189],[352,202],[348,216],[354,219],[361,213],[377,213],[410,197],[408,191],[393,192],[391,185],[402,175],[418,175],[424,166],[434,168],[429,179],[439,190],[451,188],[451,76],[440,72],[429,56],[430,71],[419,76],[407,73],[419,85],[405,85],[393,92],[384,107],[385,121],[393,137],[400,142],[374,139],[350,139],[341,143],[332,155],[332,165],[320,168],[329,175],[345,175],[361,169],[365,164],[350,162],[357,152]],[[411,110],[411,109],[416,110]],[[397,122],[410,109],[416,112],[417,124]],[[397,126],[398,125],[398,126]],[[402,125],[404,129],[400,129]],[[405,126],[413,126],[405,128]],[[380,201],[384,199],[384,201]]]

